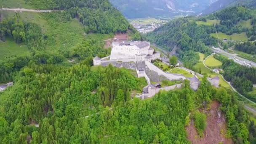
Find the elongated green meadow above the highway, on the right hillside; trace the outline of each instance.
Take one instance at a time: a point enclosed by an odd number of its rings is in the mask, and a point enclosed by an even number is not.
[[[220,40],[223,40],[224,38],[227,38],[228,40],[242,40],[242,41],[246,41],[248,40],[248,37],[246,36],[245,32],[242,32],[240,34],[234,33],[233,35],[227,35],[224,34],[222,32],[218,32],[218,35],[216,35],[216,33],[211,33],[211,36],[215,37],[215,38],[219,38]]]

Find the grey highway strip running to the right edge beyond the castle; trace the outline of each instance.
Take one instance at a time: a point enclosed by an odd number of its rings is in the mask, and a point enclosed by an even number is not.
[[[233,59],[237,64],[241,64],[241,65],[249,66],[249,67],[256,67],[256,63],[253,62],[253,61],[249,61],[249,60],[241,58],[241,57],[239,57],[239,56],[237,56],[235,54],[228,53],[227,51],[223,51],[220,48],[212,47],[212,49],[213,49],[213,51],[215,53],[220,53],[220,54],[222,54],[224,56],[229,57],[230,59]]]

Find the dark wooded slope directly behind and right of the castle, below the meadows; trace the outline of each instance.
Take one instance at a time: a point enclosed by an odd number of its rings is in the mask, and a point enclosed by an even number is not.
[[[212,53],[208,45],[217,43],[217,40],[209,34],[213,31],[213,27],[197,25],[195,21],[180,18],[170,21],[146,36],[151,42],[168,51],[178,47],[177,55],[185,62],[186,67],[192,68],[199,60],[196,51],[206,55]]]

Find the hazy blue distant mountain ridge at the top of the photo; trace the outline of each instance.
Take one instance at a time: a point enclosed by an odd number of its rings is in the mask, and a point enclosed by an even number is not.
[[[218,0],[110,0],[128,19],[198,13]]]

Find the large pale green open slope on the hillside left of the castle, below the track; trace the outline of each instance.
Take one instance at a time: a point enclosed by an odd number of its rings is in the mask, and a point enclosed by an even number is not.
[[[14,12],[4,11],[5,16],[13,16]],[[78,19],[66,21],[60,19],[59,14],[54,13],[19,13],[21,19],[38,24],[44,35],[47,35],[47,44],[45,45],[47,51],[65,51],[72,48],[77,43],[82,43],[85,39],[98,40],[108,39],[113,35],[101,34],[85,34],[83,25]]]

